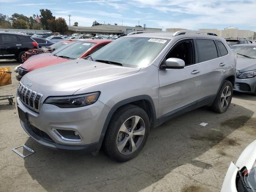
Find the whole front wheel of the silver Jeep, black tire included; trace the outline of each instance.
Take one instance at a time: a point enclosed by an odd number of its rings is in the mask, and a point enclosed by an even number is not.
[[[140,107],[126,105],[117,110],[104,138],[104,149],[110,158],[126,162],[136,157],[146,144],[150,130],[147,113]]]

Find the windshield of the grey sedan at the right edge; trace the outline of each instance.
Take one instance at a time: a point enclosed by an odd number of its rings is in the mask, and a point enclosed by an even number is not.
[[[251,46],[231,46],[231,50],[236,54],[237,57],[242,58],[256,58],[256,45],[255,47]]]

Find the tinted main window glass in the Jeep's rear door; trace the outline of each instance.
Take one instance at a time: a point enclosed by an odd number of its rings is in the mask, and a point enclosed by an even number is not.
[[[218,52],[214,40],[196,39],[198,62],[204,62],[218,58]]]

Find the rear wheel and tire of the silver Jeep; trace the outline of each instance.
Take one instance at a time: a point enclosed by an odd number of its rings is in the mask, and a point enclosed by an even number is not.
[[[214,103],[211,108],[214,112],[224,113],[230,106],[233,96],[233,86],[232,83],[228,80],[224,81],[224,84],[220,88],[218,95],[216,96]]]

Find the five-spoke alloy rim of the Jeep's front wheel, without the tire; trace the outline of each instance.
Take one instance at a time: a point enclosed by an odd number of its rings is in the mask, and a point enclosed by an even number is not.
[[[145,135],[145,123],[140,116],[128,118],[120,127],[116,138],[118,151],[124,155],[135,152]]]

